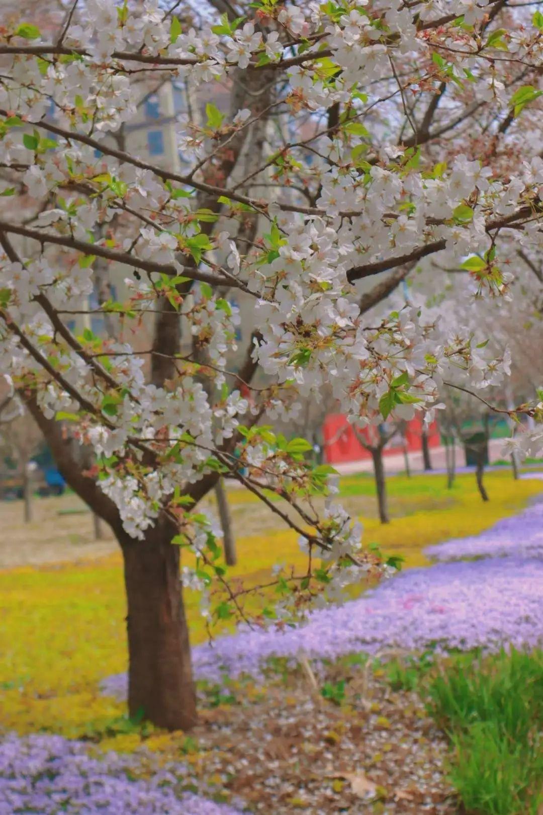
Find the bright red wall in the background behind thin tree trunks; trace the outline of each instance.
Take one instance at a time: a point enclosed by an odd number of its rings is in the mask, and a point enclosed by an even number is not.
[[[422,449],[421,430],[423,426],[422,418],[415,416],[407,423],[405,440],[409,452],[417,452]],[[366,438],[368,430],[359,431]],[[322,437],[324,438],[324,458],[328,464],[341,464],[344,461],[358,461],[370,458],[370,453],[362,447],[345,416],[341,413],[331,413],[326,416],[322,425]],[[428,445],[439,447],[440,434],[437,430],[436,422],[433,421],[428,429]],[[383,450],[383,456],[392,456],[403,452],[403,446],[397,444],[396,437],[392,438],[387,447]]]

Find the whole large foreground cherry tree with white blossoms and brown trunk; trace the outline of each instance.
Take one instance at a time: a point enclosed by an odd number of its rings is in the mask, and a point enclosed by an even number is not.
[[[218,526],[197,506],[219,478],[258,496],[307,552],[302,574],[274,575],[267,616],[291,619],[386,571],[334,502],[329,469],[274,423],[325,386],[359,428],[417,411],[431,421],[451,371],[474,399],[507,375],[506,351],[466,315],[535,276],[513,260],[543,248],[540,7],[73,0],[55,33],[28,17],[0,30],[0,364],[120,543],[131,712],[195,721],[182,584],[201,591],[210,622],[246,618],[262,588],[230,584]],[[182,171],[123,137],[142,83],[172,80],[196,100],[177,121]],[[197,100],[214,89],[228,104],[208,101],[202,117]],[[464,313],[447,318],[444,284],[430,306],[374,318],[423,258],[462,270]],[[96,278],[102,290],[118,267],[128,294],[98,311],[129,333],[72,330]],[[254,328],[235,369],[233,292]],[[508,415],[519,411],[541,422],[537,398]],[[541,443],[541,425],[522,438]]]

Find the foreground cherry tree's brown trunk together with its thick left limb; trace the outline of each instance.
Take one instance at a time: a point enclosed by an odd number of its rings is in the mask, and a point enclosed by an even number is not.
[[[147,530],[144,540],[130,538],[123,530],[116,505],[94,478],[85,474],[81,460],[73,456],[72,441],[61,423],[46,419],[35,398],[26,403],[66,482],[111,526],[122,549],[128,605],[130,716],[142,713],[154,725],[189,729],[196,721],[196,703],[179,572],[180,549],[170,543],[175,527],[164,519]]]

